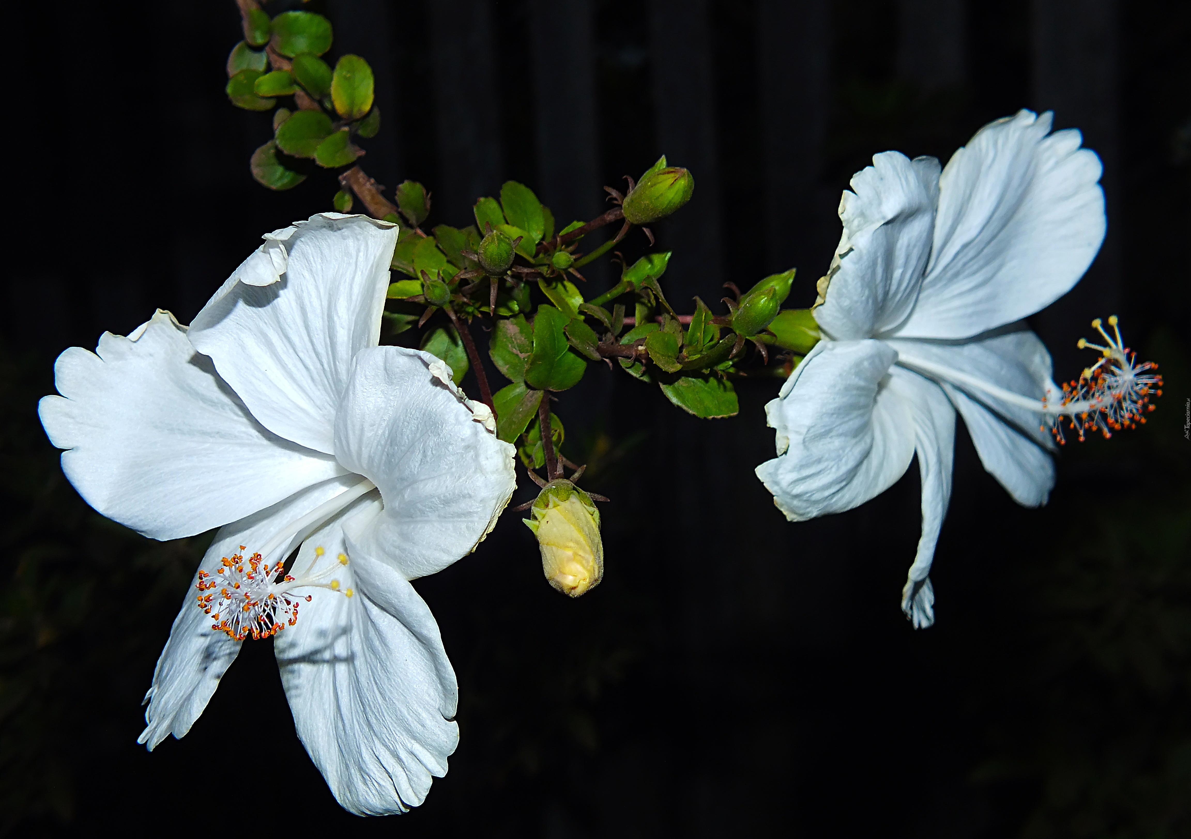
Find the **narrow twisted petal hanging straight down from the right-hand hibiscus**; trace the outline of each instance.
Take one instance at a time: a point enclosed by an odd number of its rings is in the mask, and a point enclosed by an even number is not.
[[[935,591],[929,575],[939,531],[952,500],[955,408],[937,384],[909,370],[894,368],[888,387],[913,417],[913,451],[922,477],[922,536],[902,590],[902,611],[913,628],[921,630],[935,622]]]

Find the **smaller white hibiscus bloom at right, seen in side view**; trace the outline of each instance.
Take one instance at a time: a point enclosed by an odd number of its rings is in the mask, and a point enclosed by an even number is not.
[[[1131,390],[1065,403],[1050,355],[1021,323],[1079,281],[1104,238],[1099,158],[1078,131],[1049,130],[1049,113],[1022,111],[981,129],[942,174],[933,157],[896,151],[856,173],[819,281],[824,339],[766,408],[778,457],[756,474],[792,521],[863,503],[917,455],[922,538],[902,599],[916,627],[934,622],[928,574],[955,412],[985,469],[1033,507],[1054,484],[1048,418],[1143,399],[1117,348]]]

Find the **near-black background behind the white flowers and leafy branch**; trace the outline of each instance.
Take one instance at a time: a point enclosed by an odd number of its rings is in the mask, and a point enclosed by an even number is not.
[[[773,452],[773,380],[741,382],[740,417],[703,422],[593,367],[556,409],[588,488],[612,497],[605,582],[559,596],[510,514],[417,583],[462,732],[423,807],[350,816],[288,718],[260,728],[249,709],[283,701],[269,643],[245,644],[191,733],[149,755],[138,702],[205,539],[149,543],[89,511],[36,400],[62,349],[154,307],[188,321],[262,232],[329,209],[336,186],[250,179],[269,119],[223,95],[230,0],[24,4],[6,24],[0,829],[1191,835],[1185,1],[307,7],[335,24],[332,58],[376,71],[363,167],[424,182],[430,224],[466,224],[506,179],[565,223],[661,152],[691,168],[693,201],[657,227],[676,301],[794,264],[787,305],[810,305],[840,190],[874,152],[946,161],[991,119],[1053,108],[1104,161],[1109,234],[1034,325],[1061,378],[1085,363],[1087,321],[1117,312],[1166,395],[1141,431],[1068,445],[1042,511],[1014,505],[960,431],[937,625],[915,632],[898,601],[916,468],[856,511],[787,524],[752,474]],[[625,256],[643,249],[635,233]]]

